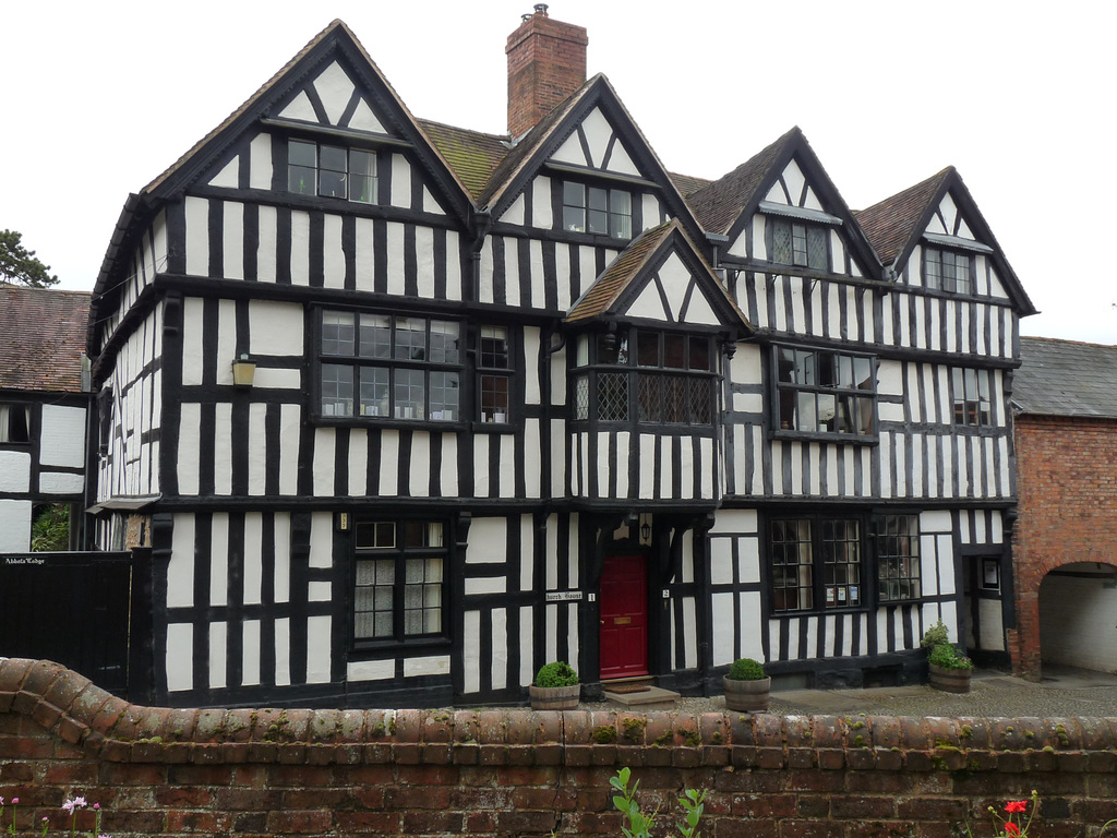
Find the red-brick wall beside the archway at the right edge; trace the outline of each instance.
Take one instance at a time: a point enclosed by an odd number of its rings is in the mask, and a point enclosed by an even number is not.
[[[1117,563],[1117,422],[1015,418],[1019,521],[1013,531],[1013,673],[1041,677],[1040,584],[1073,562]]]

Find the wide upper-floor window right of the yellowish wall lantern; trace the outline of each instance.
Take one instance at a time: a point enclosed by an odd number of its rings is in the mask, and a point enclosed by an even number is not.
[[[324,417],[460,419],[460,324],[367,312],[322,312]]]

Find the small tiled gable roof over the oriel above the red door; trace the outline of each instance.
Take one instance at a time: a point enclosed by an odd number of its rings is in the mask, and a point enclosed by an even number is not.
[[[706,286],[716,288],[715,307],[723,323],[728,325],[727,321],[733,321],[733,325],[741,332],[751,330],[745,315],[687,236],[678,219],[671,219],[640,234],[574,303],[566,315],[566,322],[623,315],[621,307],[629,296],[628,292],[636,288],[647,268],[659,263],[661,257],[672,249],[679,251],[691,269],[705,279]]]

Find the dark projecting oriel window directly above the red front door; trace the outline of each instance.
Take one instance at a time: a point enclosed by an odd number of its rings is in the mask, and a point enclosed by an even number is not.
[[[652,337],[655,363],[649,362],[648,350]],[[632,325],[615,332],[581,335],[577,340],[586,341],[586,363],[571,373],[572,420],[657,428],[662,432],[713,434],[718,425],[717,384],[720,381],[715,337],[707,332]],[[615,342],[615,346],[610,347],[610,342]],[[669,351],[669,342],[681,344],[681,358],[678,347]],[[704,362],[695,360],[703,355]],[[652,387],[658,389],[658,394],[651,391]],[[676,390],[674,403],[680,407],[685,417],[679,412],[668,416],[672,403],[669,390]],[[614,398],[609,398],[610,393]],[[657,407],[662,408],[663,413],[649,417],[648,412]]]

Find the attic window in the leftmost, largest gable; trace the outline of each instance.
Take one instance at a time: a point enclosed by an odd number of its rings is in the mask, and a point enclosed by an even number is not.
[[[292,140],[287,143],[287,189],[296,194],[374,203],[376,154]]]

